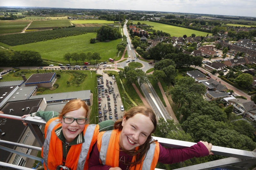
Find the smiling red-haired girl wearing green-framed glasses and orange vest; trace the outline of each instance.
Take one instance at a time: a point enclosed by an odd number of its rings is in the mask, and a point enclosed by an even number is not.
[[[104,121],[100,125],[85,124],[88,115],[89,107],[85,101],[70,100],[60,114],[53,111],[36,112],[21,117],[40,116],[47,122],[41,154],[45,170],[88,169],[90,152],[99,130],[112,129],[114,124],[113,121]],[[25,122],[23,124],[27,125]]]

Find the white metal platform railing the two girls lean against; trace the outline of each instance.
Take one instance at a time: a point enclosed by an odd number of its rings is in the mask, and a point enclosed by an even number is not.
[[[38,133],[38,130],[37,130],[39,129],[38,125],[45,125],[46,122],[43,119],[38,120],[30,116],[22,119],[19,116],[6,115],[6,114],[0,114],[0,117],[16,119],[16,120],[24,120],[26,123],[28,123],[29,128],[35,135],[36,140],[39,142],[39,144],[44,143],[44,137],[42,132],[40,131],[40,133]],[[185,141],[179,141],[179,140],[167,139],[167,138],[161,138],[161,137],[154,137],[154,139],[157,139],[162,146],[172,147],[172,148],[184,148],[184,147],[189,147],[196,144],[193,142],[185,142]],[[0,144],[6,143],[6,142],[8,144],[11,144],[8,141],[0,140]],[[38,148],[35,146],[28,146],[28,145],[19,144],[19,143],[12,143],[12,144],[14,144],[15,146],[21,146],[24,148],[41,150],[40,147]],[[176,170],[191,170],[191,169],[210,170],[213,168],[246,170],[256,163],[256,149],[252,152],[252,151],[244,151],[244,150],[238,150],[238,149],[232,149],[232,148],[226,148],[226,147],[220,147],[220,146],[212,146],[212,152],[214,153],[214,155],[221,155],[228,158],[215,160],[215,161],[202,163],[202,164],[197,164],[194,166],[183,167]],[[4,162],[0,162],[0,167],[1,166],[12,167],[13,169],[20,169],[20,170],[23,170],[23,169],[31,170],[30,168],[15,166],[15,165],[4,163]]]

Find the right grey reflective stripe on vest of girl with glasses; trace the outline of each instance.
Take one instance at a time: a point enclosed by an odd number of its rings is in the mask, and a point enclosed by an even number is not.
[[[90,124],[85,131],[84,134],[84,143],[82,144],[82,149],[79,155],[78,163],[77,163],[77,170],[84,169],[84,164],[87,156],[90,156],[88,154],[89,148],[92,142],[92,137],[94,134],[94,129],[97,125],[96,124]]]

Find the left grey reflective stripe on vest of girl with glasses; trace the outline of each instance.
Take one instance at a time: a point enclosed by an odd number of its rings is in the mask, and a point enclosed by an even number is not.
[[[51,140],[51,136],[52,136],[52,129],[59,123],[56,121],[59,121],[59,119],[56,119],[55,121],[53,121],[49,124],[48,129],[47,129],[47,135],[46,135],[46,138],[44,141],[43,158],[44,158],[44,164],[45,164],[47,170],[49,170],[48,169],[48,153],[49,153],[50,140]]]

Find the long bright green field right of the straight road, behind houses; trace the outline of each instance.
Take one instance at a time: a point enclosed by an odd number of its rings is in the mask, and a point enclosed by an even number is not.
[[[170,33],[171,36],[176,36],[176,37],[182,37],[183,35],[191,36],[192,33],[196,34],[196,36],[206,36],[208,33],[201,32],[201,31],[196,31],[196,30],[191,30],[187,28],[181,28],[178,26],[170,26],[166,24],[160,24],[156,22],[150,22],[150,21],[133,21],[134,24],[137,24],[138,22],[145,23],[149,26],[154,26],[154,30],[160,30],[165,33]],[[211,35],[209,33],[209,35]]]

